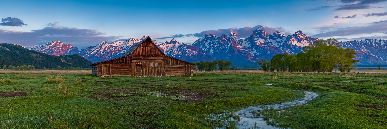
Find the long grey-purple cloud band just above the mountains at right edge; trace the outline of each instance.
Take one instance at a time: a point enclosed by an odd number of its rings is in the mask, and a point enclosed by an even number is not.
[[[379,21],[369,23],[368,26],[351,26],[351,27],[338,27],[330,26],[330,28],[318,28],[320,33],[312,35],[316,38],[330,38],[333,36],[353,36],[360,34],[374,34],[385,33],[387,31],[387,21]]]

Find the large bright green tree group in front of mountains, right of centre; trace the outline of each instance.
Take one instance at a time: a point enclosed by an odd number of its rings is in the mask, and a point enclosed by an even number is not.
[[[356,52],[353,49],[340,47],[336,39],[317,40],[298,54],[288,53],[274,55],[270,61],[261,58],[257,64],[262,71],[303,71],[303,72],[328,72],[335,67],[339,71],[351,71],[359,60],[355,60]]]

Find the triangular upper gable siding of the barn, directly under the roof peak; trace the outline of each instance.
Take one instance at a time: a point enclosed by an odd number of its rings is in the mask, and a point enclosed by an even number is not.
[[[131,55],[162,56],[163,52],[151,40],[146,40]]]

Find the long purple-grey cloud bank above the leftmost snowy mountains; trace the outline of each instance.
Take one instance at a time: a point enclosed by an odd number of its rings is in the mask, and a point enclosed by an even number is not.
[[[58,26],[57,23],[50,23],[45,28],[31,32],[0,29],[0,39],[2,39],[2,42],[17,43],[27,48],[53,40],[70,43],[78,48],[86,48],[102,41],[111,42],[121,38],[120,36],[104,36],[105,33],[96,29]]]

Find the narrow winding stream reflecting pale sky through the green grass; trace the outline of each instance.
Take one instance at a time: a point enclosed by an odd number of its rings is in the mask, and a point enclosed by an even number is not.
[[[208,115],[207,118],[211,119],[211,120],[221,120],[224,123],[234,121],[235,126],[237,126],[237,128],[239,128],[239,129],[249,129],[249,128],[251,128],[251,129],[254,129],[254,128],[257,128],[257,129],[281,129],[279,127],[268,125],[266,123],[266,121],[263,119],[263,117],[264,117],[263,115],[260,115],[260,116],[256,115],[256,114],[259,114],[259,112],[257,112],[257,111],[260,111],[266,107],[281,109],[281,108],[292,106],[292,105],[301,105],[301,104],[304,104],[305,102],[307,102],[308,100],[312,100],[313,98],[316,98],[316,96],[317,96],[316,93],[312,93],[312,92],[308,92],[308,91],[303,91],[303,92],[305,93],[305,97],[298,99],[298,100],[295,100],[295,101],[281,103],[281,104],[275,104],[275,105],[261,105],[258,107],[248,107],[248,108],[244,108],[242,110],[238,110],[232,114],[233,116],[239,115],[240,120],[235,120],[231,116],[229,117],[228,115],[230,115],[229,114],[230,112],[225,112],[221,115],[211,114],[211,115]],[[252,111],[255,111],[257,113],[253,114]],[[221,119],[221,118],[223,118],[223,119]],[[224,118],[229,118],[229,119],[224,119]],[[224,129],[225,127],[219,127],[219,128]]]

